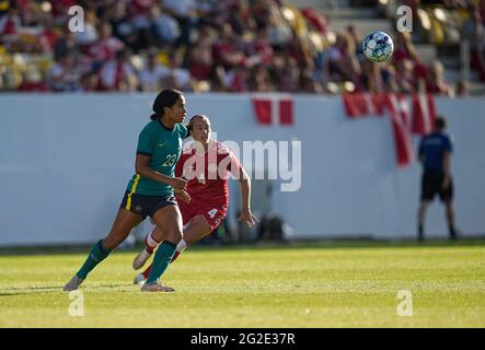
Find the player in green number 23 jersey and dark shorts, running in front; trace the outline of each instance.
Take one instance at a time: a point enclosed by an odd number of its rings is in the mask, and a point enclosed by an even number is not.
[[[151,121],[141,130],[138,139],[136,174],[128,183],[118,214],[109,234],[91,249],[84,265],[65,285],[65,291],[77,290],[88,273],[129,235],[147,215],[163,232],[166,240],[153,258],[153,267],[141,288],[149,292],[172,292],[173,288],[158,282],[168,268],[182,240],[182,214],[174,190],[184,192],[186,180],[174,176],[175,164],[182,152],[182,139],[188,135],[182,124],[185,118],[185,97],[182,92],[163,90],[153,103]]]

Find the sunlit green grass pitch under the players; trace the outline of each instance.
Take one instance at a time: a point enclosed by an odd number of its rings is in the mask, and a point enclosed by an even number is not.
[[[165,273],[175,293],[141,293],[115,252],[72,317],[61,287],[85,253],[0,256],[0,327],[485,327],[484,241],[194,247]]]

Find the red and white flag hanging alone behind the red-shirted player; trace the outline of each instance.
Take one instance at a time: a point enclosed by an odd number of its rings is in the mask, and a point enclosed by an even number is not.
[[[291,97],[253,97],[252,104],[256,120],[261,125],[293,125],[293,101]]]

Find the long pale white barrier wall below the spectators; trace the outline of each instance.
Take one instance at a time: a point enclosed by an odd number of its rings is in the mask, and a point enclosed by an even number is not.
[[[415,237],[420,167],[417,162],[396,166],[389,118],[350,120],[339,96],[293,95],[295,124],[263,127],[249,94],[186,97],[187,116],[209,115],[220,141],[301,142],[300,189],[282,192],[277,182],[270,199],[273,212],[292,229],[289,238]],[[1,94],[0,246],[84,244],[105,236],[134,173],[138,133],[153,98]],[[482,235],[485,100],[437,98],[437,107],[455,138],[458,225],[465,235]],[[238,200],[235,194],[232,222]],[[437,201],[427,232],[447,237]]]

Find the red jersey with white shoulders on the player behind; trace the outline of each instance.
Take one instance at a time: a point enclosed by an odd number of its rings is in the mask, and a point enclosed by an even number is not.
[[[210,141],[209,150],[197,154],[195,142],[184,147],[175,166],[175,175],[188,179],[190,206],[223,206],[229,202],[229,173],[239,176],[241,164],[232,152],[218,141]]]

